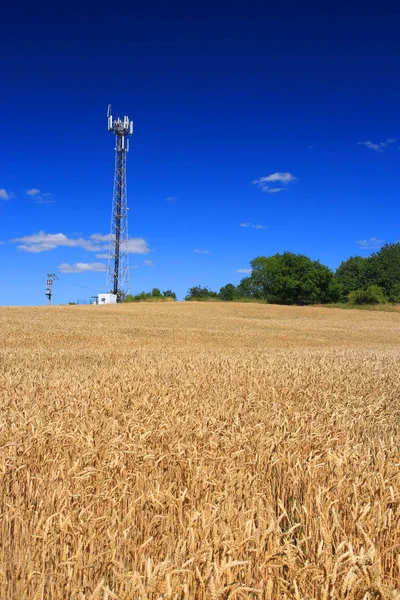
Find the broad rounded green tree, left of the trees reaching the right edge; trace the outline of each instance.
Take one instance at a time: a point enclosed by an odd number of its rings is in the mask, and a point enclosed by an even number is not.
[[[330,301],[333,273],[303,254],[284,252],[258,256],[250,262],[256,293],[275,304],[316,304]]]

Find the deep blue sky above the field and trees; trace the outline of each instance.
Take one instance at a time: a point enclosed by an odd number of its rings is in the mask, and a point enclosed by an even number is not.
[[[105,291],[104,272],[62,271],[107,263],[88,240],[110,227],[108,103],[135,122],[129,229],[150,252],[130,255],[133,293],[397,241],[399,31],[383,3],[3,6],[0,303],[45,303],[50,271],[54,303]]]

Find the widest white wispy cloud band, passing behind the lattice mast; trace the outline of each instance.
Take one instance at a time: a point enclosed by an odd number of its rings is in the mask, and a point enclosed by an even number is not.
[[[33,235],[15,238],[11,240],[17,244],[18,250],[21,252],[47,252],[56,248],[82,248],[88,252],[105,253],[109,248],[110,234],[102,235],[101,233],[93,233],[89,239],[83,237],[70,238],[64,233],[45,233],[39,231]],[[143,238],[131,238],[127,242],[127,252],[129,254],[147,254],[150,248],[146,240]]]

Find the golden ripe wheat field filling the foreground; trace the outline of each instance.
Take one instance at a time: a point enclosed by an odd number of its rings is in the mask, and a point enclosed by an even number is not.
[[[1,600],[400,598],[400,314],[1,308]]]

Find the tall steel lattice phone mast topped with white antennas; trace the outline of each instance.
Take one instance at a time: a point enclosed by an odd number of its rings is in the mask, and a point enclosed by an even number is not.
[[[107,291],[121,301],[129,293],[128,205],[126,195],[126,154],[133,121],[128,117],[112,118],[108,106],[108,131],[115,133],[114,192],[111,211],[110,253],[108,259]]]

